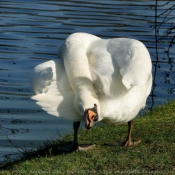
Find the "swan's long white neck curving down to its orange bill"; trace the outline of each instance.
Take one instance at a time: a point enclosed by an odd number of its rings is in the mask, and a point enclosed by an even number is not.
[[[99,104],[87,58],[87,48],[98,39],[100,38],[90,34],[75,33],[66,39],[63,46],[64,66],[70,85],[75,92],[74,103],[78,112],[80,112],[80,105],[83,108],[92,108],[95,102]]]

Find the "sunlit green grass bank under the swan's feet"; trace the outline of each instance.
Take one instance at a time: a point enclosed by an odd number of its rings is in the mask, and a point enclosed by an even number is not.
[[[2,168],[3,174],[175,174],[175,102],[159,106],[135,120],[133,139],[142,142],[130,148],[104,143],[125,140],[127,124],[81,129],[80,143],[95,143],[88,151],[58,153],[57,145],[73,135],[46,144],[36,152],[26,152],[20,161]]]

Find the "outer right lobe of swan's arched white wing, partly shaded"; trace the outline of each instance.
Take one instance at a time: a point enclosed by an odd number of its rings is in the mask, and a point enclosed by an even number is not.
[[[112,39],[107,47],[127,89],[148,82],[152,69],[151,59],[142,42],[126,38]]]

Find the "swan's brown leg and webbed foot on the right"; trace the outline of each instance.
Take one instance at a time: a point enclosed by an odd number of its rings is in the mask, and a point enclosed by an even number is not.
[[[132,134],[133,125],[134,125],[134,120],[131,120],[131,121],[128,122],[128,136],[127,136],[126,141],[123,144],[124,147],[135,146],[135,145],[137,145],[141,142],[141,140],[138,140],[136,142],[132,142],[131,134]]]

